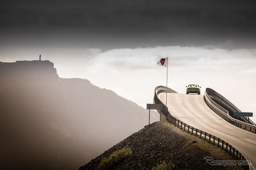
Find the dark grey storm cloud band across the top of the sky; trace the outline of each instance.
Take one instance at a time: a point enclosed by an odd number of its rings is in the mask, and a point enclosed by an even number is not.
[[[56,42],[146,45],[254,42],[254,1],[55,0],[1,2],[1,34]],[[8,38],[8,36],[5,36]],[[2,43],[2,42],[1,42]],[[255,43],[255,42],[254,42]]]

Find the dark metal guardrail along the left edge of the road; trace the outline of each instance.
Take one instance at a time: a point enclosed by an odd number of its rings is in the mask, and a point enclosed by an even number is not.
[[[234,148],[228,142],[226,142],[212,134],[209,134],[209,133],[199,130],[197,128],[191,127],[190,125],[187,125],[186,123],[173,117],[170,114],[170,112],[168,111],[168,107],[166,107],[166,105],[164,105],[164,103],[162,103],[162,101],[160,101],[160,99],[158,98],[158,94],[166,93],[166,90],[167,90],[167,93],[177,93],[176,91],[174,91],[170,88],[166,88],[164,86],[157,86],[155,88],[155,95],[154,95],[154,103],[163,105],[163,109],[161,111],[160,110],[158,110],[158,111],[162,112],[162,114],[166,117],[166,120],[168,120],[170,123],[174,124],[175,126],[180,127],[180,129],[187,131],[187,132],[191,132],[192,134],[195,134],[196,136],[198,136],[200,138],[204,138],[204,140],[208,140],[210,143],[222,148],[223,150],[226,150],[236,160],[244,160],[244,161],[247,160],[241,152],[239,152],[236,148]],[[165,110],[165,108],[167,111]],[[247,162],[247,164],[250,163],[248,161],[246,161],[246,162]],[[244,165],[243,167],[245,170],[250,170],[249,165]]]

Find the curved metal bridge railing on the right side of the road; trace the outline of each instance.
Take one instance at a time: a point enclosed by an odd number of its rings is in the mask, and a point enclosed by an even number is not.
[[[216,91],[214,91],[210,88],[206,88],[204,97],[205,97],[206,104],[215,113],[220,115],[223,119],[225,119],[229,123],[232,123],[233,125],[238,125],[240,127],[242,127],[242,125],[244,125],[245,129],[246,129],[246,127],[249,127],[250,131],[252,131],[252,128],[253,128],[254,132],[256,133],[256,126],[255,126],[256,124],[252,120],[250,120],[249,117],[242,117],[242,119],[245,122],[234,119],[234,118],[230,117],[230,115],[228,114],[228,111],[226,109],[222,108],[220,105],[218,105],[216,102],[214,102],[212,100],[212,99],[215,99],[215,100],[219,101],[220,103],[222,103],[223,105],[225,105],[226,107],[228,107],[229,109],[232,108],[231,110],[234,112],[241,112],[236,106],[234,106],[230,101],[228,101],[222,95],[220,95],[219,93],[217,93]]]

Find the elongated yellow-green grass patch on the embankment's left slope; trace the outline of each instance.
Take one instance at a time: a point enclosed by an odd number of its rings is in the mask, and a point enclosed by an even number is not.
[[[130,147],[124,147],[121,150],[117,150],[115,152],[113,152],[110,156],[108,156],[107,158],[103,158],[100,161],[100,164],[98,165],[98,170],[107,170],[109,168],[111,168],[111,166],[113,166],[114,164],[116,164],[117,162],[119,162],[120,160],[122,160],[125,157],[128,157],[132,154],[132,150]]]

